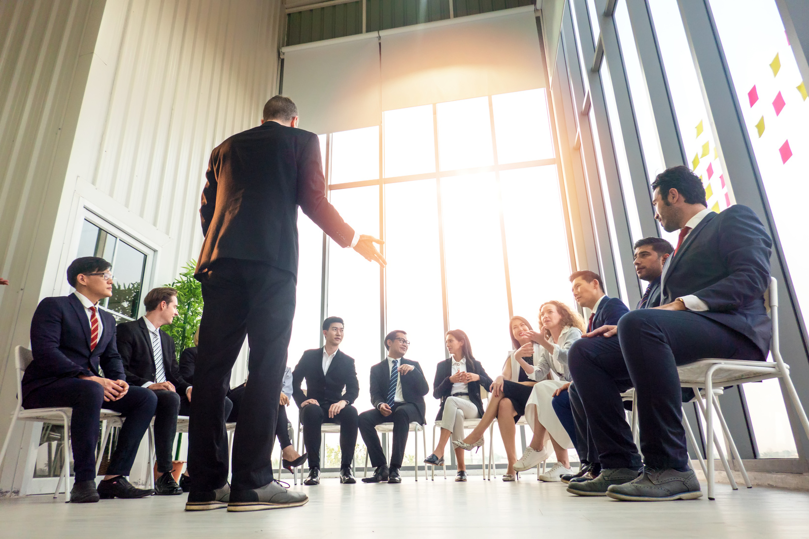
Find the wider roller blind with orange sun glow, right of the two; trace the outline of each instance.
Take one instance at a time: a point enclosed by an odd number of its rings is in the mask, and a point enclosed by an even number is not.
[[[532,6],[486,15],[381,32],[382,110],[543,88]]]

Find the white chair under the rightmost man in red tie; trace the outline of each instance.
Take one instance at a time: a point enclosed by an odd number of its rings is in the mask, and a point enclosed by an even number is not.
[[[769,288],[765,293],[764,300],[769,317],[773,322],[773,338],[769,347],[773,361],[705,359],[677,368],[680,373],[680,385],[692,388],[694,393],[697,394],[697,402],[701,403],[701,409],[705,414],[705,430],[707,432],[714,432],[714,411],[718,411],[718,399],[714,395],[714,384],[726,387],[747,384],[753,381],[769,380],[769,378],[782,378],[784,385],[786,385],[787,393],[784,395],[784,402],[787,403],[786,398],[789,397],[790,403],[803,425],[804,432],[809,436],[809,419],[807,419],[806,411],[803,410],[803,405],[800,398],[798,398],[798,392],[795,391],[795,386],[790,378],[790,366],[784,363],[778,346],[778,294],[777,280],[774,277],[770,277]],[[711,396],[713,406],[704,405],[699,388],[705,388],[705,395]],[[739,451],[733,443],[721,413],[718,414],[718,418],[719,423],[722,425],[722,431],[730,445],[731,453],[736,461],[741,464],[742,460],[739,457]],[[714,499],[714,436],[705,436],[705,461],[708,499]],[[746,476],[747,474],[743,475]],[[728,477],[732,477],[732,474],[728,474]],[[746,477],[745,482],[749,482]]]

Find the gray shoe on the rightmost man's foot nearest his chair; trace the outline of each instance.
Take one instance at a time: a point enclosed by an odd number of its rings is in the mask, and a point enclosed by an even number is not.
[[[608,487],[607,495],[625,502],[669,502],[701,498],[702,492],[694,470],[646,469],[634,481]]]

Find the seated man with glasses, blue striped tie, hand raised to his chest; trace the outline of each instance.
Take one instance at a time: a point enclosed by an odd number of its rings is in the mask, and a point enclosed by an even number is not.
[[[409,345],[404,331],[391,331],[385,336],[388,357],[371,367],[371,403],[374,409],[359,415],[359,432],[375,471],[370,478],[362,478],[362,482],[402,482],[399,469],[404,458],[410,423],[426,423],[424,396],[430,391],[430,385],[421,371],[421,365],[417,361],[404,358]],[[379,443],[375,429],[379,423],[388,422],[393,423],[390,467],[385,461],[382,444]]]

